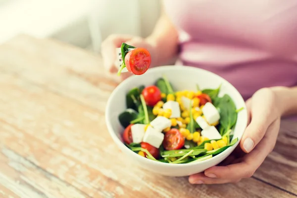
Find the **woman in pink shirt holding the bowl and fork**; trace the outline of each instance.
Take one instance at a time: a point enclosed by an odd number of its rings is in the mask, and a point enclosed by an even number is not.
[[[148,49],[152,66],[178,55],[181,64],[228,80],[247,99],[249,124],[241,149],[189,182],[251,177],[275,146],[280,118],[297,114],[296,0],[164,0],[164,8],[148,38],[108,37],[102,44],[105,67],[117,71],[115,48],[125,42]]]

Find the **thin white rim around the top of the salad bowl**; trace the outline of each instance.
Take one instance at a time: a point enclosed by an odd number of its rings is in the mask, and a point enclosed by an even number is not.
[[[151,73],[151,72],[155,72],[155,71],[158,71],[158,70],[164,70],[165,68],[174,68],[174,69],[187,69],[187,70],[195,70],[197,72],[197,70],[200,70],[204,73],[209,73],[211,75],[215,75],[217,78],[219,78],[224,84],[229,84],[229,86],[233,87],[236,94],[238,94],[240,96],[240,99],[242,100],[242,103],[243,103],[243,112],[246,112],[247,114],[247,106],[246,106],[246,102],[245,100],[243,99],[243,97],[241,96],[241,94],[238,92],[238,90],[230,83],[228,82],[227,80],[225,80],[224,78],[222,78],[221,76],[215,74],[215,73],[212,73],[210,71],[207,71],[205,69],[201,69],[201,68],[197,68],[197,67],[192,67],[192,66],[186,66],[186,65],[164,65],[164,66],[158,66],[158,67],[153,67],[153,68],[150,68],[146,73]],[[105,122],[106,122],[106,125],[107,125],[107,130],[108,130],[108,133],[110,134],[111,138],[113,139],[113,141],[116,143],[116,145],[118,145],[118,147],[120,147],[121,149],[124,149],[124,150],[129,150],[131,152],[131,154],[135,157],[139,157],[139,160],[145,160],[148,164],[151,164],[151,165],[160,165],[160,166],[171,166],[171,167],[190,167],[190,166],[194,166],[194,165],[199,165],[199,164],[204,164],[206,162],[210,162],[210,161],[215,161],[217,158],[220,158],[221,156],[223,156],[226,152],[232,150],[232,149],[235,149],[238,144],[240,143],[243,135],[244,135],[244,132],[246,130],[246,127],[247,127],[247,115],[245,116],[245,120],[243,121],[244,124],[245,124],[245,128],[243,129],[243,132],[240,133],[240,135],[238,136],[238,141],[236,144],[234,144],[233,146],[227,148],[226,150],[224,150],[223,152],[209,158],[209,159],[206,159],[206,160],[203,160],[203,161],[197,161],[197,162],[193,162],[193,163],[186,163],[186,164],[173,164],[173,163],[164,163],[164,162],[160,162],[160,161],[155,161],[155,160],[151,160],[151,159],[148,159],[147,157],[143,157],[135,152],[133,152],[130,148],[128,148],[115,134],[114,130],[112,129],[112,126],[111,126],[111,123],[107,120],[107,118],[109,117],[110,115],[110,112],[107,110],[110,108],[111,106],[111,99],[114,98],[114,95],[116,94],[116,92],[122,88],[124,88],[127,84],[129,84],[130,81],[133,81],[134,78],[136,78],[137,76],[131,76],[127,79],[125,79],[124,81],[122,81],[114,90],[113,92],[111,93],[111,95],[109,96],[108,98],[108,101],[107,101],[107,104],[106,104],[106,108],[105,108]],[[237,121],[238,122],[238,121]],[[236,122],[236,123],[237,123]],[[128,151],[128,152],[129,152]],[[230,153],[231,154],[231,153]],[[144,161],[144,162],[145,162]]]

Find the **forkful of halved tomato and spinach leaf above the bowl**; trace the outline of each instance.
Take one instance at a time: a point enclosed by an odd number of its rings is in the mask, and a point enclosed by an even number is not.
[[[147,49],[135,48],[134,46],[122,43],[121,56],[123,63],[118,70],[118,75],[121,74],[121,71],[125,67],[132,74],[142,75],[146,73],[150,66],[151,57]]]

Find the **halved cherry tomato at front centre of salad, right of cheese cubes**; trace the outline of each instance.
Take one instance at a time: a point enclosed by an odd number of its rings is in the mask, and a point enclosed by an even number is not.
[[[178,129],[171,129],[170,131],[166,132],[163,140],[163,147],[166,150],[180,149],[184,145],[185,139]]]

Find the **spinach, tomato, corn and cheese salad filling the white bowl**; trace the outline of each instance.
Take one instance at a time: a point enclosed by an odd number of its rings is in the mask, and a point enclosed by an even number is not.
[[[164,163],[192,163],[209,159],[237,143],[233,100],[218,97],[217,89],[175,91],[164,76],[154,85],[140,86],[126,95],[127,109],[118,119],[122,138],[132,151]]]

